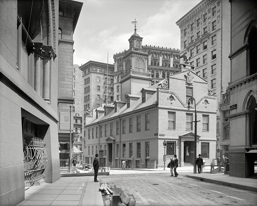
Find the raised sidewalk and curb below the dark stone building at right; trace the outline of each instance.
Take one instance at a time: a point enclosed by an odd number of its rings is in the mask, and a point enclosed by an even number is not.
[[[239,189],[257,192],[257,179],[232,177],[229,175],[225,175],[224,173],[187,174],[186,176],[204,182],[210,182],[214,184],[236,187]]]

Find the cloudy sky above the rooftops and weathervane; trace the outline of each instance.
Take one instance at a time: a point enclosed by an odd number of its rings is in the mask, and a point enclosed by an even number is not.
[[[131,21],[138,21],[136,32],[142,45],[180,49],[182,16],[201,0],[77,0],[83,2],[73,34],[73,64],[93,60],[113,64],[113,54],[128,50],[134,33]]]

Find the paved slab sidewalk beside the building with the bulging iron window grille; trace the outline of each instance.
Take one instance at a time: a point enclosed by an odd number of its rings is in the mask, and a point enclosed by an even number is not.
[[[18,205],[96,205],[103,206],[100,183],[94,176],[60,178],[54,183],[30,187]]]

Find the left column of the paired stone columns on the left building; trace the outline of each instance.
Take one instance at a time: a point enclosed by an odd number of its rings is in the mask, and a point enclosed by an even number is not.
[[[41,76],[41,55],[42,55],[42,46],[43,43],[35,42],[35,51],[34,51],[34,62],[35,62],[35,73],[34,73],[34,89],[40,95],[40,76]]]

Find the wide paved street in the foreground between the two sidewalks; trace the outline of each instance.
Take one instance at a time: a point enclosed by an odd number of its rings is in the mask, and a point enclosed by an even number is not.
[[[137,205],[256,205],[257,193],[168,173],[99,176],[134,195]]]

